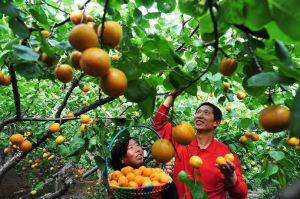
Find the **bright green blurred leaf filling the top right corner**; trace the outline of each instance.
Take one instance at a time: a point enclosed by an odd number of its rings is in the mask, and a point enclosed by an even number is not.
[[[300,41],[300,1],[272,0],[273,19],[291,39]]]

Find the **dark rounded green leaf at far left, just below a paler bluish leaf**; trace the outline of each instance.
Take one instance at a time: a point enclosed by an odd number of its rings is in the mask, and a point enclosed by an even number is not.
[[[38,77],[41,74],[40,67],[37,63],[19,63],[16,64],[14,68],[17,73],[28,79]]]

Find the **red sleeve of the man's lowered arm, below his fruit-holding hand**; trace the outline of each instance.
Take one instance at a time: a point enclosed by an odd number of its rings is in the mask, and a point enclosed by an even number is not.
[[[242,174],[241,163],[237,155],[234,153],[234,164],[237,181],[233,187],[228,187],[228,193],[232,199],[245,199],[247,198],[248,188],[244,181]]]

